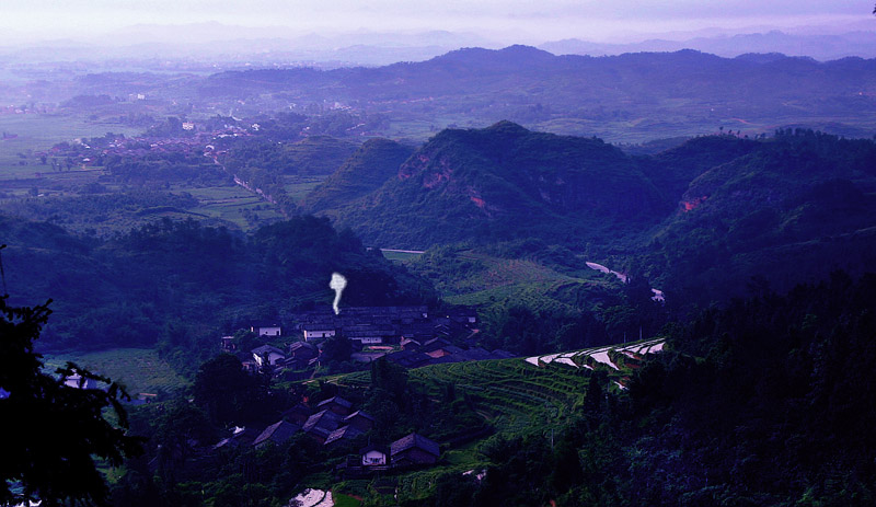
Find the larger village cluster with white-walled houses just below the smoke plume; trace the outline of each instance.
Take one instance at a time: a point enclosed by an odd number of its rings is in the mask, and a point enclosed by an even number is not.
[[[369,362],[381,357],[405,368],[418,368],[441,362],[461,362],[514,357],[505,350],[486,350],[475,346],[477,314],[471,308],[430,312],[428,307],[351,307],[339,314],[331,309],[295,316],[297,339],[285,349],[262,345],[238,350],[232,336],[222,338],[222,349],[241,354],[249,369],[304,370],[320,361],[320,344],[327,338],[344,336],[354,347],[350,359]],[[275,341],[287,336],[278,323],[263,323],[250,329],[260,337]],[[454,345],[450,338],[457,339]]]

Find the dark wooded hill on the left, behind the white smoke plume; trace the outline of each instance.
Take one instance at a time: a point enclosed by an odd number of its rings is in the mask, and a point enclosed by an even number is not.
[[[333,272],[348,279],[344,304],[434,298],[428,285],[366,251],[349,231],[313,217],[266,226],[250,237],[164,220],[107,241],[0,217],[0,238],[8,244],[2,261],[11,302],[55,300],[41,345],[56,349],[165,341],[209,354],[221,333],[331,304]]]

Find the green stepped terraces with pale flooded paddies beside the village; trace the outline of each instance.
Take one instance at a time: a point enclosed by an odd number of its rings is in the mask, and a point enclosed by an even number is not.
[[[439,399],[447,384],[452,383],[457,394],[463,395],[473,410],[505,437],[533,435],[551,438],[552,430],[570,423],[580,412],[593,370],[607,372],[609,389],[620,392],[622,388],[618,382],[641,365],[648,350],[661,349],[662,343],[662,339],[650,339],[526,359],[434,365],[408,370],[408,381],[419,384],[433,399]],[[636,359],[631,356],[636,356]],[[572,364],[556,361],[557,357],[567,358]],[[360,371],[326,380],[342,387],[365,389],[370,383],[370,373]],[[480,445],[481,440],[477,440],[445,449],[440,466],[391,474],[387,481],[397,486],[399,497],[424,498],[440,475],[470,473],[488,465],[479,452]],[[334,487],[362,494],[366,484],[366,481],[347,481]],[[392,502],[390,495],[385,495],[385,499]]]

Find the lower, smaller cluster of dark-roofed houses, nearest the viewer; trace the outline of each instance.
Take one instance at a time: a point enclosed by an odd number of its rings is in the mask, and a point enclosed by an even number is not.
[[[231,437],[219,441],[214,449],[279,445],[299,433],[332,449],[368,433],[373,426],[373,417],[364,411],[354,411],[353,403],[334,396],[320,402],[313,410],[299,403],[284,412],[280,420],[261,431],[235,428]],[[348,457],[342,468],[354,474],[370,473],[435,464],[440,456],[437,442],[411,434],[389,446],[369,445],[358,454]]]

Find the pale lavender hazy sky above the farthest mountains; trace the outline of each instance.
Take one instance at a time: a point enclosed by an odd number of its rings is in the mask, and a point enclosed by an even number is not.
[[[873,0],[0,0],[0,30],[57,38],[214,21],[301,33],[448,30],[520,42],[618,41],[708,27],[876,27],[872,11]]]

